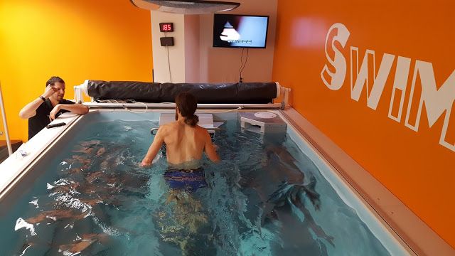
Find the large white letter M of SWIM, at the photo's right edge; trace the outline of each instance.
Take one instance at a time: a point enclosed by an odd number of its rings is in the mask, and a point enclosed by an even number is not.
[[[414,125],[410,124],[410,114],[412,112],[412,101],[414,100],[414,89],[419,75],[422,84],[422,92],[420,96],[419,106],[417,107],[417,115],[415,115]],[[420,116],[422,114],[422,107],[425,103],[425,110],[427,110],[427,118],[429,127],[441,117],[445,112],[444,124],[442,126],[441,137],[439,144],[445,146],[451,151],[455,151],[455,141],[446,142],[447,130],[449,129],[449,121],[451,110],[454,107],[455,100],[455,70],[449,75],[449,78],[441,85],[439,90],[436,86],[434,79],[434,71],[432,63],[416,60],[414,75],[412,78],[410,92],[410,100],[407,105],[405,126],[417,132],[419,130]],[[415,111],[415,110],[414,110]]]

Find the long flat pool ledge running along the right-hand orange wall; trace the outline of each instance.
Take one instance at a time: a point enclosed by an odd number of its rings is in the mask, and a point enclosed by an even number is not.
[[[412,252],[416,255],[455,255],[453,247],[299,112],[292,108],[279,112]]]

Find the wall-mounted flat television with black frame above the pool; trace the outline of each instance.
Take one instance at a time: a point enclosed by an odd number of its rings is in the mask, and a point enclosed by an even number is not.
[[[215,14],[213,47],[265,48],[269,16]]]

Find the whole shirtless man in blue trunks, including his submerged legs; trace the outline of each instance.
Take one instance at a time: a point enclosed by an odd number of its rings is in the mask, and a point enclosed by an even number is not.
[[[198,126],[199,120],[194,114],[196,97],[183,92],[177,95],[176,105],[176,122],[159,127],[141,166],[150,166],[161,145],[166,144],[168,170],[164,179],[170,188],[166,206],[171,207],[173,213],[169,215],[167,210],[160,210],[156,221],[165,242],[181,247],[182,255],[193,255],[191,247],[196,244],[198,230],[208,222],[202,204],[197,196],[193,197],[193,191],[207,186],[199,160],[203,152],[213,162],[220,158],[207,130]]]

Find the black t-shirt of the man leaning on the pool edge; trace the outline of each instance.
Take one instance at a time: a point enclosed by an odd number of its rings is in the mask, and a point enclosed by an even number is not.
[[[59,104],[74,104],[74,102],[70,100],[60,100]],[[30,117],[28,119],[28,139],[31,139],[35,136],[38,132],[40,132],[46,125],[50,123],[49,114],[53,110],[52,103],[50,100],[47,99],[45,102],[41,103],[41,105],[36,110],[36,114],[34,117]],[[60,114],[65,112],[69,112],[68,110],[60,110],[55,117],[58,117]]]

